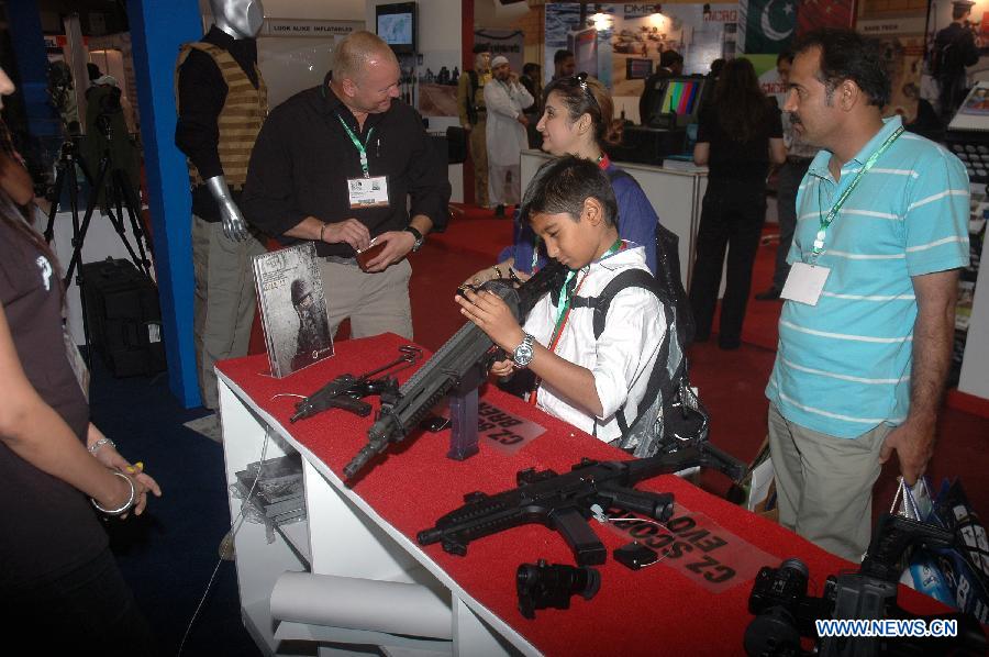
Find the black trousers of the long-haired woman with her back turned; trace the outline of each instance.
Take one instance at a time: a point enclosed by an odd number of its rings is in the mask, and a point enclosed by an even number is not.
[[[697,233],[697,260],[690,280],[690,307],[697,321],[697,339],[707,339],[711,334],[725,248],[727,280],[721,302],[718,342],[732,347],[742,339],[752,265],[765,219],[766,185],[762,179],[712,179],[708,182]]]

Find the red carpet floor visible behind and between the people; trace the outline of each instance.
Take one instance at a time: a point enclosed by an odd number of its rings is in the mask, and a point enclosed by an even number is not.
[[[457,208],[446,233],[430,235],[423,248],[412,256],[415,339],[434,350],[463,324],[453,301],[457,285],[494,264],[498,252],[512,235],[510,219],[493,219],[490,211],[471,207]],[[759,247],[753,294],[769,287],[775,252],[775,242]],[[743,345],[737,350],[723,352],[716,341],[690,349],[691,379],[711,412],[711,439],[744,460],[756,455],[766,437],[768,402],[763,391],[773,369],[780,308],[779,302],[752,299],[742,332]],[[716,326],[715,318],[715,331]],[[342,326],[337,339],[344,339],[346,334],[346,326]],[[252,353],[263,350],[264,341],[256,330]],[[960,477],[975,509],[989,517],[989,478],[986,477],[989,419],[945,408],[938,436],[937,450],[929,468],[933,481],[938,485],[944,477]],[[876,513],[884,506],[888,509],[892,501],[897,474],[894,463],[884,468],[875,492]]]

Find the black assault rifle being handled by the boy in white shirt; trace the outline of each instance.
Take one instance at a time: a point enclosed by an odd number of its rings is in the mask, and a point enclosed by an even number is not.
[[[519,288],[508,281],[491,280],[478,289],[491,290],[501,297],[515,319],[522,321],[544,294],[559,289],[566,267],[549,263]],[[400,443],[445,394],[456,388],[476,389],[488,376],[499,349],[474,322],[467,322],[433,357],[402,385],[398,399],[382,400],[377,421],[367,432],[367,445],[344,468],[344,476],[353,479],[367,463],[385,450],[390,443]]]

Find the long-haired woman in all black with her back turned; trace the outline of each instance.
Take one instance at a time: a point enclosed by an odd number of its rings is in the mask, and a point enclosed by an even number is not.
[[[786,157],[779,108],[763,93],[752,62],[729,62],[713,101],[701,111],[693,147],[693,162],[710,167],[690,286],[697,342],[711,334],[727,249],[718,346],[742,344],[752,266],[766,219],[766,176]]]

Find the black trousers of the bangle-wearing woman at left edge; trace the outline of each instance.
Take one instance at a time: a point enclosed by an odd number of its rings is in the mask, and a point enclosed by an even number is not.
[[[11,655],[155,654],[154,639],[109,549],[53,579],[0,589]],[[9,624],[9,625],[8,625]]]

